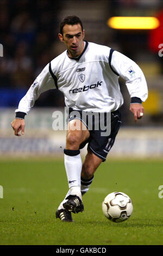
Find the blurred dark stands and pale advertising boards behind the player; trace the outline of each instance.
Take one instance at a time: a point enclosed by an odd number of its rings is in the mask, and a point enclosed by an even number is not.
[[[145,115],[136,124],[129,111],[130,97],[120,79],[124,104],[122,127],[109,157],[161,157],[163,153],[163,3],[161,0],[1,0],[0,43],[0,156],[59,156],[65,131],[53,131],[52,114],[64,111],[58,90],[43,93],[26,116],[25,135],[14,136],[10,123],[18,102],[44,66],[65,50],[58,39],[59,23],[68,15],[83,21],[85,39],[106,45],[133,59],[146,76],[149,97]],[[158,17],[155,29],[114,29],[112,16]],[[83,150],[85,154],[85,149]]]

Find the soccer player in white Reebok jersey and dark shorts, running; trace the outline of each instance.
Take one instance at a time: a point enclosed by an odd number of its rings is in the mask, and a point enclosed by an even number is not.
[[[70,108],[64,161],[69,190],[60,203],[56,217],[73,222],[71,212],[82,212],[82,196],[89,190],[99,164],[106,160],[120,128],[123,104],[118,78],[126,80],[134,119],[142,118],[143,106],[148,96],[143,72],[133,60],[110,47],[84,41],[82,21],[77,16],[68,16],[60,23],[61,42],[67,50],[54,58],[37,76],[27,94],[21,99],[16,117],[11,126],[16,136],[24,134],[24,117],[34,106],[39,95],[48,89],[64,93],[65,104]],[[79,116],[73,114],[79,113]],[[83,113],[111,113],[111,131],[102,136],[101,128],[89,129]],[[104,122],[106,123],[106,115]],[[74,126],[80,129],[74,129]],[[80,149],[86,144],[87,154],[82,163]]]

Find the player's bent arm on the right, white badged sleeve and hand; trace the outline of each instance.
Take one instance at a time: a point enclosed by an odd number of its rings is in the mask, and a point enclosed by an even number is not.
[[[148,97],[148,89],[145,76],[140,67],[122,53],[114,51],[111,59],[112,68],[126,80],[131,103],[130,111],[134,114],[134,119],[141,119],[143,116],[142,101]]]

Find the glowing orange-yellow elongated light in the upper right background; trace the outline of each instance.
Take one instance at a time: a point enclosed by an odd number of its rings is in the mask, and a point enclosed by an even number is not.
[[[115,29],[154,29],[160,22],[156,17],[111,17],[107,24]]]

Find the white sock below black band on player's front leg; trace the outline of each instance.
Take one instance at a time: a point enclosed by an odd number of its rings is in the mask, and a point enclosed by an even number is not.
[[[78,154],[77,156],[68,156],[65,154],[65,169],[67,174],[68,187],[70,188],[68,193],[66,194],[66,197],[72,194],[77,195],[82,200],[82,194],[80,191],[82,159],[80,154]],[[66,200],[67,199],[64,199],[61,202],[58,209],[63,208],[62,205],[66,202]]]

